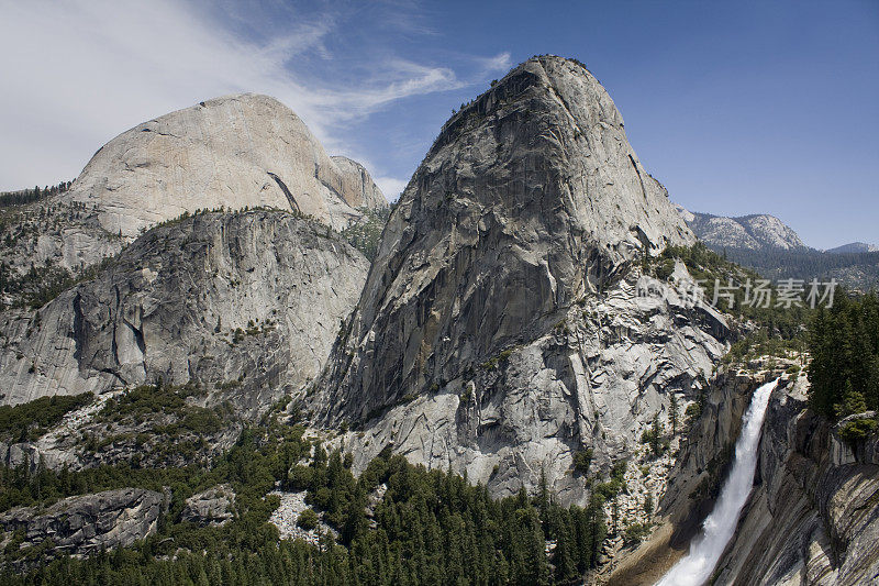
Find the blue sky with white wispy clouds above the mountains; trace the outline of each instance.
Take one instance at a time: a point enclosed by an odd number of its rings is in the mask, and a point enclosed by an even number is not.
[[[0,189],[75,177],[143,120],[276,96],[388,196],[452,108],[534,54],[576,57],[694,211],[879,243],[879,2],[0,0]]]

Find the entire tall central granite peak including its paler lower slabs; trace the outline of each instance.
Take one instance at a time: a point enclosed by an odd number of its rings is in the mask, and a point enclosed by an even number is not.
[[[720,322],[637,295],[645,255],[692,242],[594,77],[531,59],[455,114],[412,177],[315,420],[364,429],[364,461],[392,443],[496,494],[544,467],[581,499],[574,452],[631,451],[725,350]]]

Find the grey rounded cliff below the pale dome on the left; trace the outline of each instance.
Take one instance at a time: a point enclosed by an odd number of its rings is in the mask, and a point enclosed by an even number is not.
[[[257,413],[318,376],[368,263],[294,213],[201,213],[155,228],[38,311],[0,314],[3,403],[194,380]]]

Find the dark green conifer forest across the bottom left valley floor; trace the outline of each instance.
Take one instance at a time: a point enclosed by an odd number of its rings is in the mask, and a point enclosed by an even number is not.
[[[301,427],[264,425],[245,430],[204,468],[3,468],[0,489],[15,496],[3,508],[124,486],[169,486],[173,502],[158,532],[132,548],[43,563],[34,560],[45,552],[7,551],[0,583],[567,584],[597,564],[609,531],[605,505],[624,489],[622,462],[607,482],[585,480],[591,484],[586,507],[561,507],[545,482],[534,495],[492,499],[485,486],[413,466],[389,450],[355,477],[344,450],[327,453],[303,439]],[[219,483],[236,491],[234,520],[204,528],[180,521],[185,499]],[[338,539],[280,540],[267,522],[279,502],[268,495],[277,484],[307,490],[307,502]]]

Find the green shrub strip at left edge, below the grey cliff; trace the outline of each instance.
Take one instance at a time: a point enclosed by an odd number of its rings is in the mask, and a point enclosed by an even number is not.
[[[41,397],[23,405],[0,406],[0,439],[5,442],[27,442],[57,425],[65,414],[85,407],[94,395],[56,395]]]

